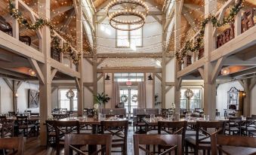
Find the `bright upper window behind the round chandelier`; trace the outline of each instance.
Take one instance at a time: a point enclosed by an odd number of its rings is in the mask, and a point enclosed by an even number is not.
[[[118,25],[120,29],[133,29],[136,25]],[[116,47],[142,47],[142,28],[133,31],[116,30]]]

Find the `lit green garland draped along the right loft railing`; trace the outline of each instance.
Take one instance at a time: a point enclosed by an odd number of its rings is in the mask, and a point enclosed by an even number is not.
[[[224,26],[228,23],[233,23],[234,19],[236,17],[236,14],[238,14],[242,8],[243,1],[244,0],[239,0],[238,2],[236,2],[234,7],[230,9],[230,14],[228,15],[228,17],[224,17],[224,19],[221,21],[218,21],[217,17],[215,17],[213,15],[210,15],[205,20],[203,20],[201,30],[199,32],[199,37],[196,38],[196,41],[194,41],[194,42],[187,41],[185,43],[184,48],[180,51],[180,53],[179,52],[175,53],[177,61],[182,62],[184,60],[184,57],[187,56],[187,53],[189,51],[197,52],[197,51],[199,51],[200,48],[202,48],[206,24],[211,22],[213,24],[213,26],[217,28],[217,27]]]

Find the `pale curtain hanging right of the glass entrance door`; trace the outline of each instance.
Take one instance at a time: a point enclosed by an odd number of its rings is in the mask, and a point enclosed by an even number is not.
[[[138,108],[146,108],[146,83],[139,82],[137,92]]]

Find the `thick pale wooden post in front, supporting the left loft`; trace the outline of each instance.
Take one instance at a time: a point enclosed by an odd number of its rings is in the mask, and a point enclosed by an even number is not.
[[[47,20],[51,19],[50,3],[48,0],[38,1],[39,15]],[[45,63],[41,70],[45,78],[44,83],[39,82],[40,142],[41,145],[46,145],[46,127],[44,123],[51,116],[51,32],[48,26],[42,28],[42,53],[45,55]]]

